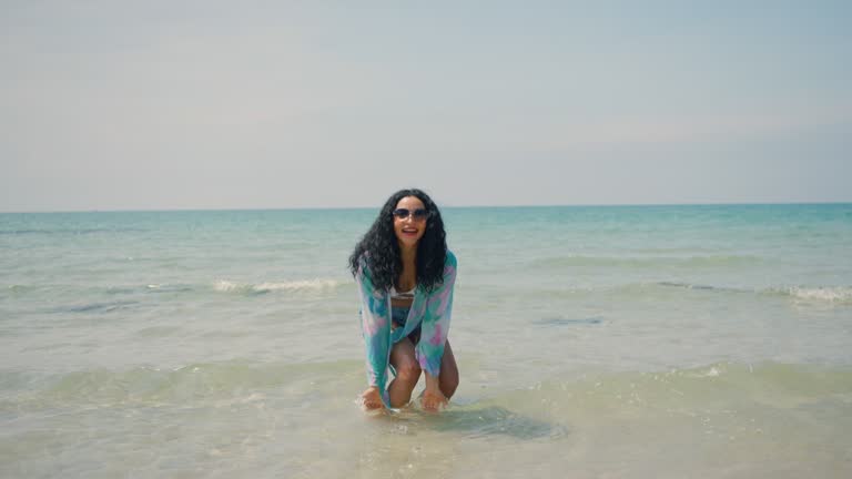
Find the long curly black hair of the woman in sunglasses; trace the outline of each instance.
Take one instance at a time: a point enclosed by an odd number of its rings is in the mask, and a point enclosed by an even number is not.
[[[444,283],[444,262],[447,258],[447,234],[440,212],[429,195],[420,190],[400,190],[385,202],[373,226],[355,246],[349,256],[353,276],[358,273],[362,258],[369,268],[373,287],[388,291],[403,272],[399,244],[394,233],[394,210],[399,200],[416,196],[428,212],[426,232],[417,244],[417,285],[432,292]]]

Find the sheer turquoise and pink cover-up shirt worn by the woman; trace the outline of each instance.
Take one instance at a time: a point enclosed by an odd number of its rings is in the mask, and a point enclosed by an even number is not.
[[[385,407],[390,407],[387,394],[387,368],[390,361],[390,348],[408,336],[418,325],[420,340],[415,347],[415,356],[420,368],[433,377],[440,374],[440,359],[447,343],[449,320],[453,316],[453,289],[456,283],[456,256],[447,251],[444,263],[444,282],[430,293],[419,285],[414,292],[414,302],[404,327],[392,330],[390,292],[373,287],[369,267],[364,257],[361,259],[355,281],[361,294],[361,327],[367,351],[367,383],[377,386]]]

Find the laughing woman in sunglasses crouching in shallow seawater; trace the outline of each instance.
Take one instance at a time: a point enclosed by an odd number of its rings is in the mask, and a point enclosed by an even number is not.
[[[364,407],[398,408],[426,375],[423,408],[436,411],[458,387],[447,340],[456,257],[447,249],[440,212],[426,193],[392,195],[349,257],[362,299],[367,350]],[[394,379],[387,385],[387,366]]]

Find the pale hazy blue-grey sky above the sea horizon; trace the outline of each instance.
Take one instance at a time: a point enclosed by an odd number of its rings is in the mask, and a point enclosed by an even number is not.
[[[852,201],[852,2],[0,0],[0,212]]]

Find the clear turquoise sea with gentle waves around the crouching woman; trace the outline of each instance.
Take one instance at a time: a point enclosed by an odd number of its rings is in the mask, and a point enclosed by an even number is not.
[[[852,204],[444,207],[439,414],[358,404],[377,212],[0,214],[0,477],[852,477]]]

